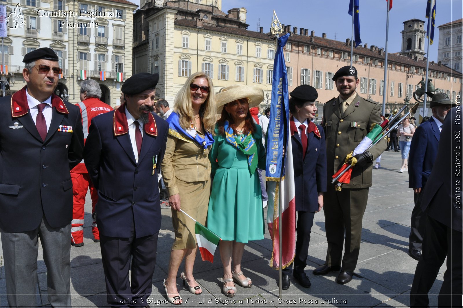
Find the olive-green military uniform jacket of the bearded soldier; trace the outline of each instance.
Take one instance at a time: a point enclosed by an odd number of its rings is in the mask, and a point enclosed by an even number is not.
[[[339,110],[339,97],[325,103],[321,125],[325,129],[326,136],[328,187],[332,186],[332,175],[342,166],[346,155],[352,152],[369,133],[373,123],[382,121],[380,110],[381,107],[378,103],[365,99],[358,94],[356,94],[343,115]],[[382,154],[387,145],[387,140],[383,139],[369,149],[369,152],[373,154],[373,161]],[[343,188],[370,187],[372,185],[372,165],[373,163],[363,168],[354,168],[350,183],[344,184]]]

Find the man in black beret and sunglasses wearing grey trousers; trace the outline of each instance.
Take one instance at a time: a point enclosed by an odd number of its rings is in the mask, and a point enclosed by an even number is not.
[[[72,181],[82,159],[79,108],[53,92],[62,72],[50,48],[24,56],[26,86],[0,98],[0,233],[11,307],[36,307],[38,238],[51,306],[69,307]]]

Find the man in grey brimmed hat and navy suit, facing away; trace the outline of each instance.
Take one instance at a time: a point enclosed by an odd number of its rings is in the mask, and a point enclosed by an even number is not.
[[[432,167],[436,162],[440,131],[445,116],[452,107],[456,106],[445,93],[432,94],[428,92],[427,94],[432,98],[430,102],[432,116],[429,121],[422,123],[413,134],[408,165],[408,187],[413,188],[415,201],[410,222],[408,254],[415,260],[419,260],[421,257],[421,247],[425,233],[426,217],[421,211],[421,196],[425,190],[425,184],[431,174]],[[429,290],[418,289],[418,291],[426,294]]]

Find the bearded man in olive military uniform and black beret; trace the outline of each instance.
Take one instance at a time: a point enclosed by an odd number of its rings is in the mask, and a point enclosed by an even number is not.
[[[335,186],[331,184],[332,175],[344,164],[346,155],[369,133],[371,125],[382,119],[380,105],[356,93],[359,79],[354,66],[340,68],[333,80],[339,96],[325,103],[321,123],[326,135],[328,184],[323,212],[328,251],[325,264],[313,270],[313,274],[325,275],[340,270],[336,281],[344,284],[350,282],[357,267],[362,218],[367,206],[368,189],[372,185],[372,163],[387,148],[387,141],[383,139],[368,151],[355,155],[357,164],[353,167],[350,183],[345,183],[341,191],[335,191]]]

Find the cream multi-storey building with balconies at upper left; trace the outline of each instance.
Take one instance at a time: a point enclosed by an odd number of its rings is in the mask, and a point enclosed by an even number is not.
[[[132,74],[132,12],[137,5],[127,0],[13,2],[6,4],[8,30],[3,49],[8,65],[7,74],[2,70],[8,81],[7,95],[25,86],[24,55],[50,47],[63,68],[56,93],[66,92],[69,102],[80,102],[81,71],[85,71],[88,79],[100,83],[102,100],[119,105],[120,87]],[[106,80],[100,80],[104,79],[100,71],[105,72]],[[120,82],[118,73],[122,73]]]

